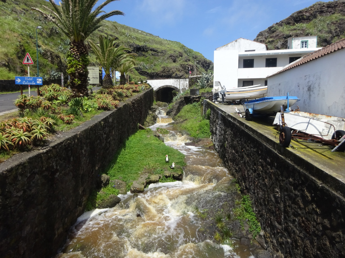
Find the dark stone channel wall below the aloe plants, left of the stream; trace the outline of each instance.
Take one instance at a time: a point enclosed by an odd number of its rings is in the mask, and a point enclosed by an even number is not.
[[[0,164],[1,257],[51,257],[83,213],[97,177],[143,123],[153,89]]]

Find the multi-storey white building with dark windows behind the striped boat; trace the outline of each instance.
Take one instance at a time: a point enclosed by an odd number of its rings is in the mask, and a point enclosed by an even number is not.
[[[239,38],[214,51],[214,82],[220,81],[227,89],[264,86],[268,75],[318,49],[267,50],[263,43]]]

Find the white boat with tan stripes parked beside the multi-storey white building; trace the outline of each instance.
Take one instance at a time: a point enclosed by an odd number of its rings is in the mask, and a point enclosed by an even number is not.
[[[225,100],[249,100],[267,96],[267,86],[247,86],[228,89],[225,93]],[[244,101],[243,101],[244,102]]]

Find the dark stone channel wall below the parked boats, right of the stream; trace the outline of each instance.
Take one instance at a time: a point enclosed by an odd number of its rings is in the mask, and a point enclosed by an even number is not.
[[[345,257],[344,184],[205,100],[215,149],[249,194],[272,257]]]

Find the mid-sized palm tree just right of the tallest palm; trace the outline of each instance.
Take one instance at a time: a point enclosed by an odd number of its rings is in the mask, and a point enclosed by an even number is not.
[[[110,88],[112,86],[110,69],[113,68],[117,71],[122,62],[126,60],[134,60],[136,54],[128,53],[130,49],[123,45],[115,47],[115,39],[109,38],[108,36],[103,37],[99,35],[99,44],[97,45],[93,42],[89,43],[93,52],[96,54],[98,62],[105,71],[102,87]]]

